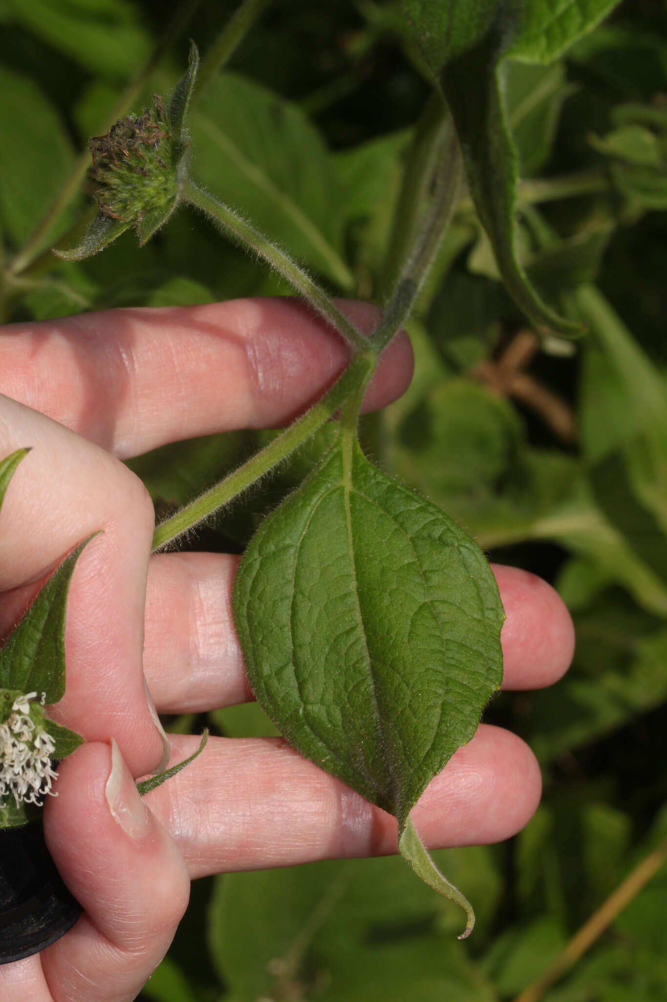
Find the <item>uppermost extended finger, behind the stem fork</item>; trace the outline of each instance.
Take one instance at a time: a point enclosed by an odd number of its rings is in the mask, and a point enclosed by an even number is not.
[[[340,309],[361,330],[367,303]],[[289,423],[342,372],[349,349],[302,300],[107,310],[0,331],[0,394],[41,411],[121,459],[180,439]],[[368,388],[365,410],[390,403],[412,376],[399,335]]]

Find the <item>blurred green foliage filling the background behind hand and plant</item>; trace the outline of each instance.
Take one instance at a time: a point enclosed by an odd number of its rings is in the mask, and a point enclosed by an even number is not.
[[[199,4],[135,110],[178,79],[188,35],[205,54],[234,8]],[[166,0],[0,0],[5,263],[175,9]],[[202,96],[194,172],[333,292],[372,300],[427,93],[397,4],[275,0]],[[514,840],[445,853],[446,872],[477,911],[475,935],[457,942],[456,909],[398,860],[234,874],[195,888],[146,999],[509,1000],[667,833],[666,95],[658,0],[622,4],[547,67],[509,65],[525,178],[522,262],[588,335],[537,340],[463,199],[410,326],[413,384],[364,428],[376,461],[493,559],[552,581],[578,631],[561,682],[506,693],[486,713],[529,741],[545,792]],[[84,204],[82,192],[43,248]],[[6,278],[2,304],[5,320],[45,320],[285,292],[184,212],[143,249],[128,232],[78,264],[47,254],[22,282]],[[261,438],[179,443],[133,466],[165,512]],[[266,495],[218,517],[199,545],[239,551],[318,448],[319,439],[293,458]],[[219,733],[271,732],[256,706],[209,715]],[[545,999],[667,999],[666,912],[663,872]]]

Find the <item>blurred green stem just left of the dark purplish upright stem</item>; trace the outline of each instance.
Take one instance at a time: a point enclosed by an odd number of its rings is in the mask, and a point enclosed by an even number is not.
[[[392,223],[389,249],[383,268],[382,292],[389,294],[414,245],[442,147],[447,108],[440,90],[434,90],[424,106],[408,150],[401,191]]]

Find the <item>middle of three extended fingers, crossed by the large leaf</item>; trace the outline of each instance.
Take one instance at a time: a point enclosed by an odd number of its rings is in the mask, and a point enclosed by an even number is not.
[[[146,593],[144,671],[163,713],[197,712],[252,699],[232,617],[239,557],[158,554]],[[554,589],[517,567],[493,566],[507,614],[503,688],[539,688],[569,666],[574,635]]]

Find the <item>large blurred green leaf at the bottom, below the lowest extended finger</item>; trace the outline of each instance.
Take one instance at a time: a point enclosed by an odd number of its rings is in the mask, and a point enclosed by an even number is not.
[[[434,856],[447,867],[466,858],[457,876],[490,901],[492,853]],[[296,997],[322,1002],[492,1002],[463,945],[443,935],[451,911],[395,857],[229,874],[215,884],[209,950],[244,1002],[286,999],[297,987]]]

